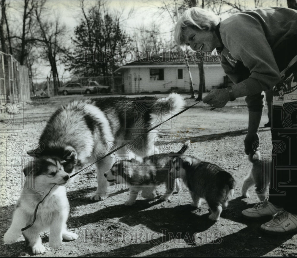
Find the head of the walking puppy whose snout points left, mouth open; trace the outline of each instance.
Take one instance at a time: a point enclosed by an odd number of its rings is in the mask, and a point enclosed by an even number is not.
[[[127,160],[116,161],[110,170],[104,173],[109,183],[128,183],[128,163]]]

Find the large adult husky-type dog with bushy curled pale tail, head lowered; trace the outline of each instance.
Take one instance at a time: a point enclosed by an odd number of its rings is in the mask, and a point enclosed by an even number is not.
[[[108,97],[75,100],[59,108],[49,119],[40,136],[40,150],[29,151],[38,158],[63,159],[65,172],[71,174],[104,157],[113,147],[130,142],[140,157],[154,153],[156,130],[149,129],[180,111],[184,102],[172,93],[167,99],[153,97]],[[122,148],[118,152],[123,152]],[[108,156],[96,163],[98,201],[107,197],[104,172],[113,164]]]

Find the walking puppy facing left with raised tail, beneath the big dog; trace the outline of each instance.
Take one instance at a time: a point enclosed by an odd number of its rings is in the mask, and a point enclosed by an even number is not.
[[[154,199],[155,188],[165,183],[166,192],[160,197],[161,200],[169,200],[174,189],[179,192],[179,180],[169,177],[172,159],[182,155],[179,152],[160,153],[144,157],[141,160],[119,160],[104,176],[109,183],[124,183],[129,188],[129,199],[125,205],[132,205],[141,192],[141,196],[146,199]]]

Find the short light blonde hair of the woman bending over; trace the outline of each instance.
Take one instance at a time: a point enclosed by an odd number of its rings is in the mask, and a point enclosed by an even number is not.
[[[176,44],[185,44],[184,31],[187,27],[201,30],[212,30],[219,24],[221,19],[213,12],[206,11],[199,7],[192,7],[186,10],[179,18],[175,26],[174,39]]]

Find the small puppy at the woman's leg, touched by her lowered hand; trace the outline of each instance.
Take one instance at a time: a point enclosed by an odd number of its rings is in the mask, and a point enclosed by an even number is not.
[[[268,160],[261,161],[261,155],[258,151],[256,151],[255,154],[249,155],[249,161],[253,165],[251,172],[244,180],[241,194],[245,198],[249,198],[248,190],[251,186],[255,185],[256,193],[260,201],[264,201],[270,182],[269,172],[272,172],[272,162]]]

